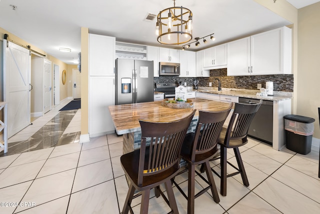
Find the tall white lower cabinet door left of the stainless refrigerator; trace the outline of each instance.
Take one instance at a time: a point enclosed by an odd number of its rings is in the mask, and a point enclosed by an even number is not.
[[[114,133],[108,106],[115,104],[114,77],[89,77],[89,136]]]

